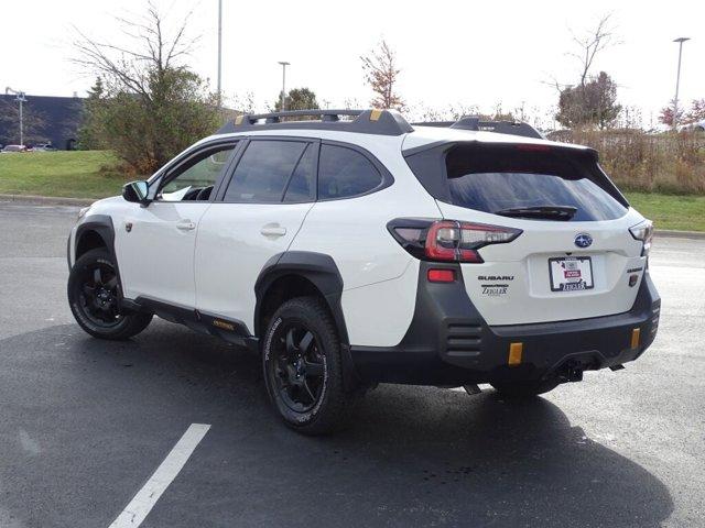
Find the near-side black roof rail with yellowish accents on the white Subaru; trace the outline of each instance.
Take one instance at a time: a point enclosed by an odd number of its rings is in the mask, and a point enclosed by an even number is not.
[[[354,117],[340,120],[340,117]],[[318,118],[318,120],[289,120],[286,118]],[[263,120],[263,122],[262,122]],[[256,130],[337,130],[360,134],[401,135],[413,132],[411,124],[395,110],[289,110],[272,113],[246,113],[228,121],[217,134]]]

